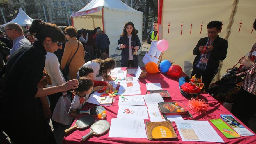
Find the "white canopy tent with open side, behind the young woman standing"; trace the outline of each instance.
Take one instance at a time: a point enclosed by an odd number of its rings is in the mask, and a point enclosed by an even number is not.
[[[78,12],[72,13],[71,19],[72,26],[76,29],[93,30],[101,27],[109,37],[109,55],[112,55],[127,21],[134,23],[142,45],[142,16],[142,12],[132,9],[120,0],[92,0]],[[120,54],[120,51],[117,52]]]

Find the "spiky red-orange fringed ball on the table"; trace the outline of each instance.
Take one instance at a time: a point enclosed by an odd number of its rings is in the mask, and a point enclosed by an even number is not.
[[[199,99],[198,97],[195,99],[192,97],[187,104],[187,109],[195,114],[201,114],[202,112],[207,111],[208,107],[209,104],[206,104],[203,99]]]

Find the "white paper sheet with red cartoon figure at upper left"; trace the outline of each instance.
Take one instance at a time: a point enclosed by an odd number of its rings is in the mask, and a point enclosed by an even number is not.
[[[119,106],[117,118],[148,119],[147,106]]]

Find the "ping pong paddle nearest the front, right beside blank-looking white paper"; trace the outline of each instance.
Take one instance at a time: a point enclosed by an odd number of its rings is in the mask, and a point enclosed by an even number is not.
[[[106,120],[99,120],[97,122],[95,122],[92,126],[91,126],[91,131],[86,134],[85,136],[82,137],[82,140],[85,141],[89,136],[91,135],[101,135],[104,134],[106,131],[108,131],[110,128],[110,124],[109,122],[107,122]]]

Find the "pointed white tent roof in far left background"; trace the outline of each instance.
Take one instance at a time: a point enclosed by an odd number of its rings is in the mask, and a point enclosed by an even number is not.
[[[22,8],[19,8],[19,13],[17,15],[17,17],[15,17],[15,19],[13,19],[12,21],[6,23],[17,23],[20,26],[26,26],[27,24],[31,24],[33,21],[33,19],[31,17],[29,17],[23,10]],[[4,27],[6,24],[0,25],[0,27]]]

